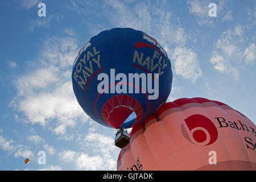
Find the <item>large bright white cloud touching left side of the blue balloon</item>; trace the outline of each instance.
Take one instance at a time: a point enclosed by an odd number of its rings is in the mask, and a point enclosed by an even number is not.
[[[66,127],[74,127],[75,119],[84,115],[73,94],[71,81],[64,82],[53,92],[34,94],[19,102],[19,110],[26,113],[30,122],[43,126],[57,118],[59,125],[54,129],[57,135],[65,134]]]

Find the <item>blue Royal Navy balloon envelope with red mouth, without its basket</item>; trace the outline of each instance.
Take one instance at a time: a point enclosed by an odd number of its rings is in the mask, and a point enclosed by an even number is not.
[[[172,85],[171,61],[146,33],[113,28],[93,36],[80,49],[72,84],[77,101],[94,121],[129,128],[166,102]]]

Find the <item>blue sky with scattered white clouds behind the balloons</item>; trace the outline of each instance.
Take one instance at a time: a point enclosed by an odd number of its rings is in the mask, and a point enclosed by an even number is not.
[[[256,1],[6,0],[0,20],[1,170],[116,169],[115,131],[82,111],[71,82],[79,48],[113,27],[142,30],[166,49],[169,101],[205,97],[256,121]]]

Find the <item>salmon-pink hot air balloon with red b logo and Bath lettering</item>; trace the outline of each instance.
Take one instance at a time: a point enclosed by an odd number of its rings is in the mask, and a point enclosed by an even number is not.
[[[167,102],[130,135],[117,170],[256,170],[256,127],[222,102]]]

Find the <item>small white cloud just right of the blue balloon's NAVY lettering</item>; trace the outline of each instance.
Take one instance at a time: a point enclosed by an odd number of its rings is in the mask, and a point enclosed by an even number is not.
[[[172,53],[176,75],[190,79],[193,83],[202,76],[197,54],[185,47],[176,47]]]

